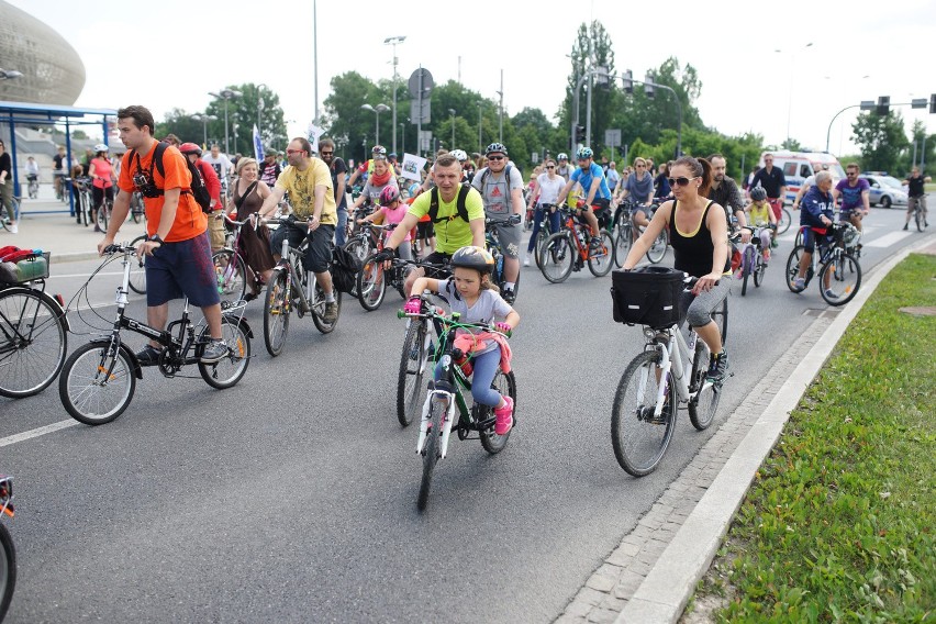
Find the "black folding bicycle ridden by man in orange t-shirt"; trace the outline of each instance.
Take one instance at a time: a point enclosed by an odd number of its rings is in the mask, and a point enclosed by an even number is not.
[[[136,354],[123,342],[123,330],[142,334],[163,346],[157,368],[164,377],[185,377],[179,371],[192,364],[198,365],[202,379],[212,388],[231,388],[244,377],[250,364],[253,337],[250,326],[244,320],[246,302],[238,301],[224,308],[221,332],[227,355],[214,364],[204,364],[200,358],[211,333],[204,320],[192,324],[188,299],[182,305],[181,317],[165,330],[131,319],[126,315],[126,296],[134,263],[132,256],[136,249],[130,245],[110,245],[104,254],[110,257],[88,278],[78,296],[82,291],[87,296],[88,285],[94,276],[112,260],[122,257],[123,280],[116,291],[116,315],[109,336],[93,338],[78,347],[65,363],[58,379],[58,395],[71,417],[88,425],[100,425],[113,421],[130,405],[136,380],[143,379],[143,371]]]

